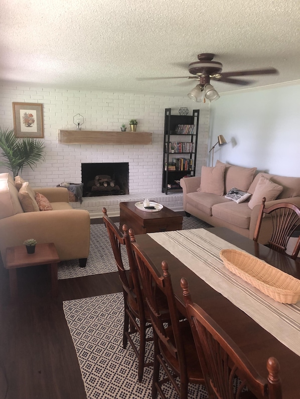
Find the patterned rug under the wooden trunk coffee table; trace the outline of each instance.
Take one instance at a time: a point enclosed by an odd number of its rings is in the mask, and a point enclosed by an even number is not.
[[[118,223],[116,225],[119,226]],[[212,226],[194,216],[183,218],[183,230],[207,227]],[[122,248],[122,250],[125,253],[125,248]],[[126,256],[124,256],[124,259],[126,259]],[[58,279],[110,273],[113,271],[116,271],[116,265],[106,228],[104,224],[91,224],[90,254],[86,267],[79,267],[78,259],[60,262],[58,264]]]

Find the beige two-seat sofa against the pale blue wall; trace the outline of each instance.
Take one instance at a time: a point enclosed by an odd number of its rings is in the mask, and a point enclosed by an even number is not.
[[[261,175],[274,182],[275,185],[282,186],[280,194],[275,200],[267,201],[265,204],[266,207],[277,202],[290,202],[300,207],[300,177],[284,177],[258,173],[253,180],[256,168],[242,168],[221,162],[217,162],[216,167],[222,166],[224,168],[223,165],[225,165],[225,173],[224,192],[221,193],[222,195],[200,191],[200,176],[180,180],[180,185],[183,188],[183,207],[187,215],[196,216],[214,227],[228,227],[239,234],[253,239],[260,205],[255,205],[251,209],[249,201],[257,194],[257,192],[255,193],[255,188]],[[246,191],[251,196],[242,203],[226,199],[225,194],[233,187]],[[259,197],[260,204],[263,196],[265,195],[261,192],[261,199]],[[270,236],[270,231],[270,219],[264,218],[258,241],[266,244],[267,238]]]

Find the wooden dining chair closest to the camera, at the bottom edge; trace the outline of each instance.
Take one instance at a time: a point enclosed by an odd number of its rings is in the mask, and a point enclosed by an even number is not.
[[[192,302],[184,277],[181,287],[209,398],[281,399],[278,361],[269,357],[266,363],[268,379],[261,377],[226,332]]]

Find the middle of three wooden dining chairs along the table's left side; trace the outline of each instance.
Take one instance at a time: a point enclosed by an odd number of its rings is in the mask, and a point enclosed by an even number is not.
[[[171,382],[180,399],[188,397],[188,384],[204,384],[196,347],[188,320],[181,320],[181,314],[176,307],[171,275],[166,261],[162,262],[163,275],[158,272],[148,256],[134,242],[134,234],[129,229],[132,248],[141,276],[143,293],[146,297],[148,311],[151,317],[154,335],[154,370],[152,398],[157,394],[163,399],[167,396],[164,384]],[[164,294],[168,307],[162,307],[160,300]],[[170,318],[170,323],[165,322]],[[160,368],[166,376],[160,379]]]

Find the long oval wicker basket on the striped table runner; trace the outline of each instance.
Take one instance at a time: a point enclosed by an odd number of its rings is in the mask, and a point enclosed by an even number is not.
[[[222,249],[220,257],[228,270],[275,301],[296,303],[300,300],[300,280],[297,278],[236,249]]]

